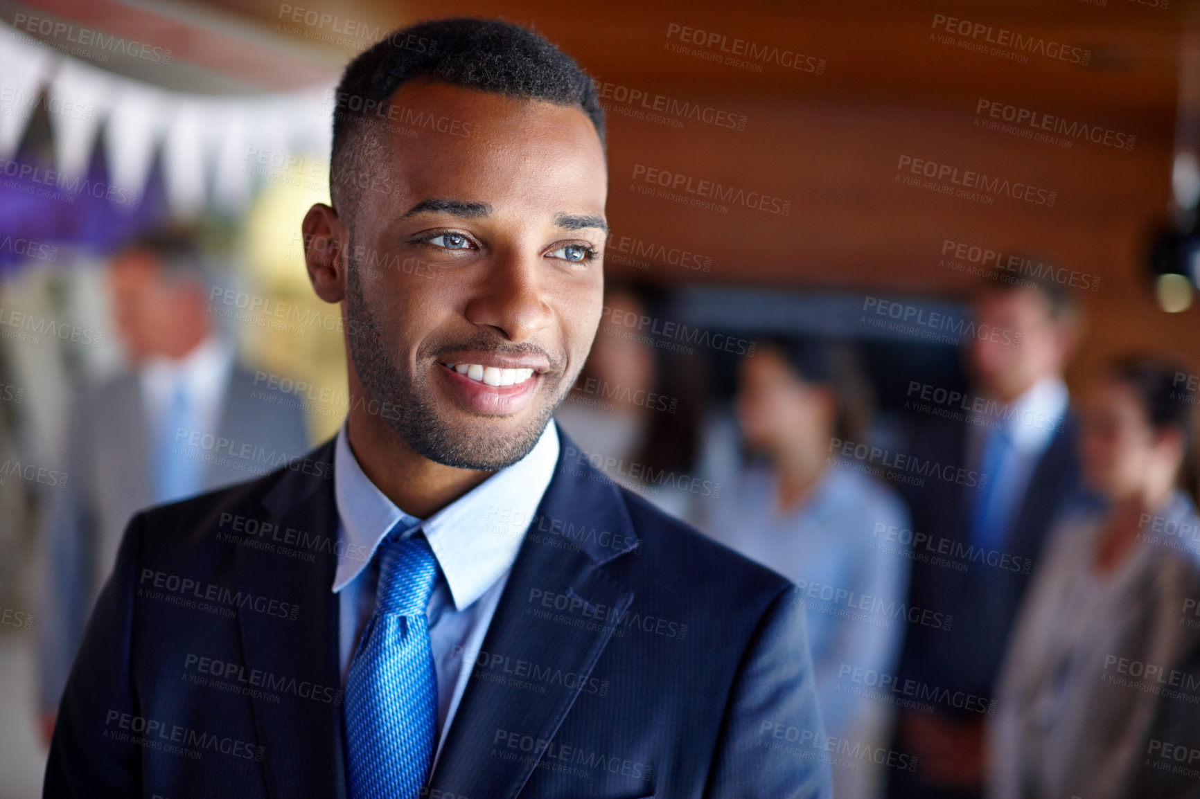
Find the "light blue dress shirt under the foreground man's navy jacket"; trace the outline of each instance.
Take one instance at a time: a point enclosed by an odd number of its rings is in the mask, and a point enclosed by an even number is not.
[[[517,551],[554,474],[558,452],[558,431],[551,422],[521,461],[421,521],[397,507],[364,474],[344,423],[337,433],[334,494],[340,554],[332,590],[340,596],[342,685],[359,637],[374,612],[379,570],[371,560],[376,547],[397,523],[404,535],[424,530],[439,567],[426,612],[438,675],[438,749],[433,767]]]

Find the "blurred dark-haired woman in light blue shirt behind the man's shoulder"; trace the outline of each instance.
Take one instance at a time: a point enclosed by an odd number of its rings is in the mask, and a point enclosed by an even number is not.
[[[880,530],[907,525],[900,499],[827,462],[832,438],[868,440],[868,405],[848,350],[760,340],[742,361],[737,395],[748,457],[701,521],[714,539],[800,585],[826,733],[850,751],[886,745],[890,705],[856,696],[864,686],[847,674],[895,667],[904,619],[877,609],[904,603],[910,564],[899,547],[876,546]],[[833,762],[834,795],[878,794],[874,758]]]

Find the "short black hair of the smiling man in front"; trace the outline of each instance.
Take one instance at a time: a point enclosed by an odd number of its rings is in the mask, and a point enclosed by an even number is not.
[[[454,17],[389,34],[346,66],[334,107],[329,188],[334,208],[353,206],[360,173],[373,150],[364,136],[391,96],[409,80],[440,83],[510,97],[576,106],[605,144],[604,109],[595,83],[544,36],[502,19]],[[372,119],[374,118],[374,119]]]

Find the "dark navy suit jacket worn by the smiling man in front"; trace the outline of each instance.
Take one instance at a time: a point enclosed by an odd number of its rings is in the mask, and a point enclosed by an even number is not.
[[[346,795],[332,461],[133,518],[46,797]],[[803,614],[784,577],[560,461],[426,795],[828,797],[846,746]]]

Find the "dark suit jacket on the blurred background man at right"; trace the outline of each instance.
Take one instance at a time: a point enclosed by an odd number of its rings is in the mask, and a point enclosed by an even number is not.
[[[913,438],[917,457],[932,458],[978,471],[978,458],[967,452],[967,426],[947,423],[922,431]],[[913,530],[940,543],[948,540],[971,546],[971,512],[977,487],[955,481],[925,479],[920,487],[907,487]],[[1007,565],[972,561],[966,571],[914,558],[910,601],[922,609],[952,614],[949,630],[910,624],[901,657],[900,679],[914,679],[949,692],[964,691],[990,701],[1009,632],[1021,599],[1038,567],[1046,533],[1064,504],[1079,495],[1079,463],[1075,455],[1075,420],[1066,416],[1030,475],[1020,507],[1014,509],[1012,527],[998,548],[1030,573]],[[947,545],[949,546],[949,545]],[[917,547],[918,553],[922,551]],[[930,552],[936,554],[936,552]],[[950,558],[954,560],[954,558]],[[1013,560],[1008,561],[1014,563]],[[949,707],[938,705],[947,715]],[[978,713],[966,711],[967,716]]]

